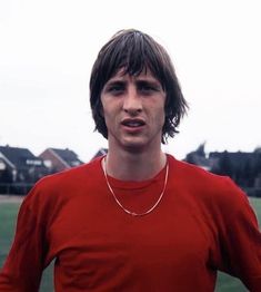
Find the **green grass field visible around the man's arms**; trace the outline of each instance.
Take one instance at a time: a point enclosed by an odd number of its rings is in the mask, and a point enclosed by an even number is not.
[[[261,198],[251,198],[251,203],[257,212],[259,222],[261,223]],[[0,203],[0,266],[2,266],[3,261],[11,246],[19,206],[19,203]],[[43,273],[40,289],[41,292],[53,291],[52,267],[53,265],[49,266]],[[223,273],[219,273],[215,291],[244,292],[247,291],[247,289],[238,279],[231,278]]]

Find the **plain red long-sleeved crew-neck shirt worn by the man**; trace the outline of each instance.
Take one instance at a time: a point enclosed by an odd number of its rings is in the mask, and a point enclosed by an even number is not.
[[[124,213],[101,158],[41,179],[23,201],[0,291],[38,291],[56,259],[56,291],[213,291],[217,270],[261,291],[261,234],[247,196],[227,177],[168,156],[162,201]],[[148,210],[163,187],[110,178],[120,202]]]

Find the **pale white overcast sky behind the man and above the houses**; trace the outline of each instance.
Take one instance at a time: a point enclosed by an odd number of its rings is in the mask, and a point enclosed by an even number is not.
[[[169,51],[190,105],[163,150],[261,146],[259,0],[1,0],[0,145],[70,148],[88,162],[107,140],[93,132],[89,78],[120,29]]]

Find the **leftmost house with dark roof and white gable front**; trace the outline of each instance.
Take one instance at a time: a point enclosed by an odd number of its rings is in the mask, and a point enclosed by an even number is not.
[[[43,160],[27,148],[0,146],[0,183],[36,183],[48,174]]]

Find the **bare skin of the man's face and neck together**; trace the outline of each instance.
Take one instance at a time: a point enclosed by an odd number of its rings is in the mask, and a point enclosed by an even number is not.
[[[149,70],[139,76],[120,70],[104,85],[101,103],[108,128],[107,173],[123,181],[152,178],[167,160],[161,150],[165,93],[160,81]]]

